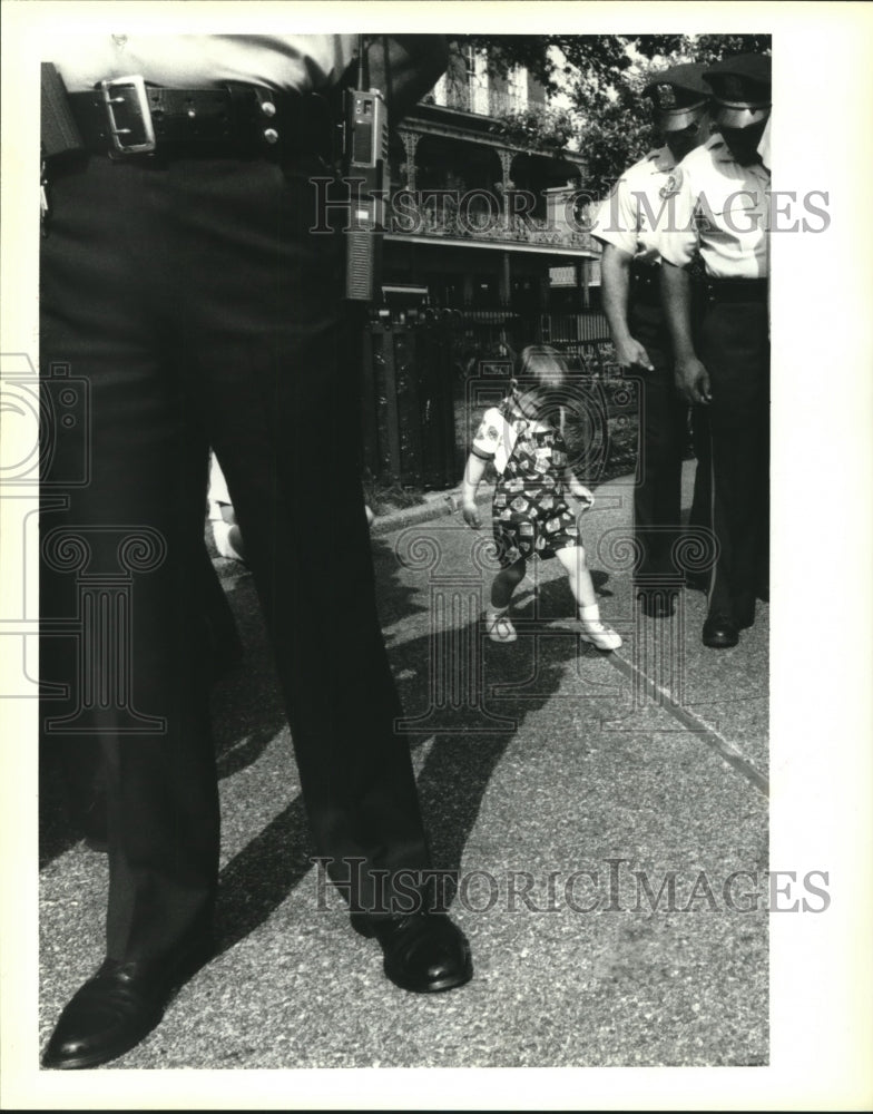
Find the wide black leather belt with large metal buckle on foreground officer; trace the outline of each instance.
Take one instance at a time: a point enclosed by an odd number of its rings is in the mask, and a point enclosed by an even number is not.
[[[69,102],[85,148],[116,158],[278,150],[333,157],[335,120],[317,94],[237,82],[167,89],[133,76],[70,94]]]

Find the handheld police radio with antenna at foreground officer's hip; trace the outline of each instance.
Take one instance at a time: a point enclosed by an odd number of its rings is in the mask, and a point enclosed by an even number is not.
[[[388,107],[379,89],[363,89],[363,37],[359,46],[357,88],[345,92],[343,175],[351,183],[346,232],[345,296],[372,302],[380,286],[385,231]]]

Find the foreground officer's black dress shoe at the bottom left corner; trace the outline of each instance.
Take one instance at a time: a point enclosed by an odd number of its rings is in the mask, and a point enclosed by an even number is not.
[[[210,954],[210,942],[204,942],[161,968],[105,960],[63,1008],[42,1066],[97,1067],[129,1052],[160,1022],[175,991]]]

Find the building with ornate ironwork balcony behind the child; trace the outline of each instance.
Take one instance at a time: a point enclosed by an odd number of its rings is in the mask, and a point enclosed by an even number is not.
[[[489,74],[453,47],[447,74],[392,133],[385,303],[526,321],[597,305],[585,157],[523,67]]]

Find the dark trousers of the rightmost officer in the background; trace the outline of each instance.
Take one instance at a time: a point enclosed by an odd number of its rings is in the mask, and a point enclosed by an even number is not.
[[[740,626],[768,588],[769,338],[765,284],[754,294],[716,291],[704,317],[699,352],[709,373],[713,528],[718,559],[709,615]],[[728,300],[729,299],[729,300]]]

